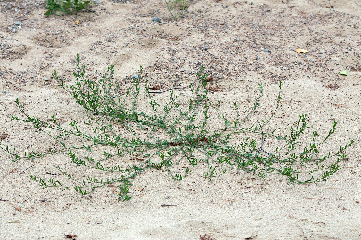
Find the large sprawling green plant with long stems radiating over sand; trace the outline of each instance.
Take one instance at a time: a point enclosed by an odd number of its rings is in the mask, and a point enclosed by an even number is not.
[[[142,77],[142,66],[140,66],[138,79],[133,78],[132,85],[124,92],[121,90],[121,84],[113,79],[113,65],[108,67],[99,81],[93,81],[87,79],[86,66],[81,65],[79,55],[77,55],[77,62],[79,70],[73,72],[74,85],[60,80],[56,71],[53,77],[61,88],[84,108],[88,119],[85,122],[87,126],[84,127],[88,127],[87,130],[91,132],[81,130],[75,120],[71,121],[69,127],[66,128],[54,116],[51,116],[49,121],[30,116],[16,99],[16,104],[25,118],[12,116],[12,120],[32,123],[37,131],[42,131],[55,139],[61,148],[49,149],[48,152],[40,154],[32,151],[20,156],[15,153],[15,149],[10,151],[9,146],[5,147],[1,143],[0,146],[14,156],[13,161],[34,159],[68,150],[71,162],[76,166],[106,172],[108,177],[88,176],[86,180],[81,181],[58,166],[61,173],[75,182],[75,186],[65,185],[53,178],[44,181],[40,177],[30,175],[44,188],[55,187],[62,190],[72,188],[81,194],[88,194],[89,190],[119,182],[119,200],[129,200],[130,196],[127,193],[131,181],[147,169],[165,169],[171,178],[181,181],[200,163],[206,164],[208,169],[203,177],[211,181],[213,177],[226,173],[227,169],[235,169],[256,174],[261,178],[270,174],[284,175],[291,184],[317,184],[330,178],[340,169],[338,163],[347,156],[345,149],[354,142],[351,140],[332,154],[331,151],[325,155],[319,153],[319,146],[326,143],[327,138],[336,131],[337,122],[335,121],[324,139],[318,141],[319,134],[313,132],[309,146],[303,147],[301,151],[296,150],[299,138],[309,128],[306,114],[299,115],[289,135],[277,135],[275,130],[266,132],[266,129],[269,129],[268,124],[279,107],[282,82],[279,83],[277,104],[275,110],[271,111],[270,117],[262,120],[261,123],[257,121],[257,124],[251,124],[249,117],[260,106],[260,98],[263,96],[262,84],[259,84],[259,93],[251,111],[246,111],[245,116],[241,116],[238,105],[234,103],[236,117],[232,120],[220,113],[221,101],[213,102],[208,97],[206,88],[208,74],[205,74],[204,66],[197,73],[198,83],[189,85],[191,95],[184,109],[177,100],[178,95],[174,93],[174,90],[170,91],[169,101],[164,106],[157,103],[149,92],[147,79]],[[139,111],[138,108],[138,98],[141,93],[140,80],[144,80],[144,94],[149,99],[149,108],[142,106],[143,111]],[[219,126],[219,121],[224,126],[214,129],[214,126]],[[209,126],[210,124],[213,128]],[[62,139],[71,135],[85,139],[88,144],[78,147],[67,146]],[[251,139],[249,135],[257,135],[260,141],[257,141],[257,138]],[[275,147],[273,151],[265,149],[265,138],[277,139],[279,147]],[[91,153],[91,148],[94,146],[103,146],[104,158],[95,159],[90,154],[78,157],[74,153],[75,149],[81,148],[85,149],[86,153]],[[105,166],[106,160],[114,156],[125,159],[126,155],[130,155],[132,159],[144,159],[144,162],[138,166],[120,163]],[[329,163],[330,158],[337,158],[337,160]],[[188,167],[179,170],[179,164],[185,165],[185,162]],[[109,174],[114,175],[114,173],[117,177],[109,177]]]

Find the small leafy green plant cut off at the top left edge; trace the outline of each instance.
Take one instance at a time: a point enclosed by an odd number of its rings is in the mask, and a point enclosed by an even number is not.
[[[44,15],[49,16],[55,14],[58,16],[70,14],[73,12],[79,12],[81,10],[87,10],[95,13],[90,8],[92,7],[93,1],[80,1],[80,0],[47,0],[44,3],[44,7],[48,9]]]

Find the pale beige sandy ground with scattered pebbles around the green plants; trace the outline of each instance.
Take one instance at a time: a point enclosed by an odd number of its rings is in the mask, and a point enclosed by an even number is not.
[[[235,101],[243,112],[249,109],[257,84],[263,83],[265,98],[255,121],[274,107],[282,80],[284,102],[273,123],[279,133],[286,134],[288,124],[306,112],[310,132],[322,136],[338,120],[339,132],[325,152],[351,138],[355,144],[342,170],[319,186],[232,171],[210,182],[196,167],[182,182],[164,171],[140,174],[129,202],[112,201],[117,198],[112,187],[82,197],[42,190],[30,180],[29,174],[52,177],[45,172],[56,173],[57,165],[79,177],[99,175],[74,168],[65,152],[19,163],[1,153],[1,239],[62,239],[64,234],[77,239],[361,239],[360,1],[193,1],[177,21],[162,1],[100,1],[94,9],[97,14],[44,17],[42,2],[1,1],[1,138],[16,151],[33,143],[29,150],[60,148],[45,134],[10,121],[19,115],[16,98],[44,120],[55,114],[63,122],[86,118],[51,79],[57,70],[70,82],[77,53],[92,77],[114,63],[115,79],[124,85],[143,64],[145,77],[160,90],[192,83],[200,65],[208,64],[210,95],[225,103],[227,117]],[[309,53],[298,54],[296,48]],[[338,74],[343,70],[347,76]],[[162,102],[168,96],[156,98]],[[18,205],[23,209],[16,211]]]

